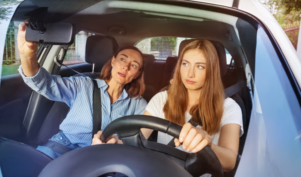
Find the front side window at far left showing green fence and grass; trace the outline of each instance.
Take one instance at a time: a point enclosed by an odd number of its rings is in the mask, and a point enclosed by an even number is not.
[[[20,22],[11,21],[6,33],[1,76],[19,73],[20,54],[17,46],[18,25]]]

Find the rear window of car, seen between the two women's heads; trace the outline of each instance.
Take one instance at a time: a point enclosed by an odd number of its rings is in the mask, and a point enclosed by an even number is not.
[[[135,46],[144,54],[153,54],[157,60],[166,60],[169,56],[178,56],[179,45],[185,39],[180,37],[153,37],[143,39]]]

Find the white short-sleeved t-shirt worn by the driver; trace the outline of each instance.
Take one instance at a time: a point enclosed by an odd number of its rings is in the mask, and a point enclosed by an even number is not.
[[[152,116],[160,117],[162,119],[165,119],[164,112],[163,112],[163,106],[167,99],[167,91],[159,92],[157,93],[147,104],[145,110],[147,110],[149,113],[151,113]],[[188,111],[185,112],[185,122],[188,122],[191,119],[191,115]],[[214,135],[211,135],[212,137],[212,143],[218,145],[219,144],[219,135],[221,133],[222,126],[228,124],[228,123],[235,123],[240,125],[240,135],[241,136],[244,133],[243,129],[243,120],[242,120],[242,113],[239,105],[232,99],[232,98],[226,98],[224,101],[224,113],[221,120],[221,125],[219,128],[219,132],[217,132]],[[202,127],[202,126],[197,126]],[[162,144],[168,144],[170,140],[172,140],[172,136],[167,135],[166,133],[158,132],[158,143]],[[182,149],[182,146],[178,147],[178,149]]]

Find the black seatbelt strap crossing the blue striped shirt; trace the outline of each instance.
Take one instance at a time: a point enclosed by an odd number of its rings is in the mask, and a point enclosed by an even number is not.
[[[92,138],[101,130],[101,90],[98,88],[97,81],[92,79],[94,83],[93,88],[93,129],[92,129]]]

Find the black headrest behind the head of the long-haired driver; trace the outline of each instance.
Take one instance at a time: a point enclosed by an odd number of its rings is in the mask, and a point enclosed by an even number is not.
[[[179,55],[187,44],[195,40],[197,39],[186,39],[182,41],[179,46]],[[224,77],[227,73],[227,58],[226,58],[225,47],[222,43],[218,41],[213,41],[213,40],[208,40],[208,41],[212,42],[214,47],[216,48],[217,54],[219,56],[219,67],[221,70],[221,76]]]

